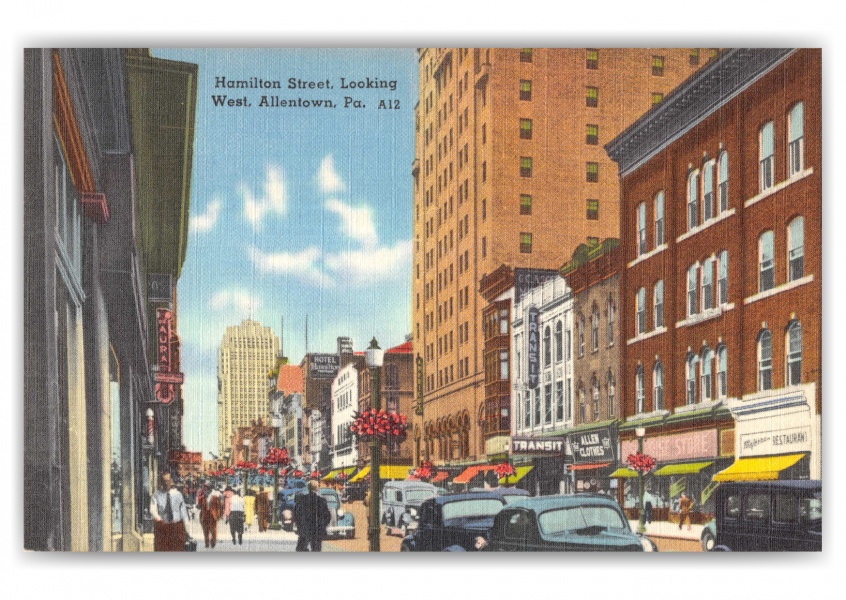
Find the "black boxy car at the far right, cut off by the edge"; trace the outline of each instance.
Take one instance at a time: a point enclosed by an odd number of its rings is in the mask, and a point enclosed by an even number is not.
[[[821,481],[723,482],[715,495],[712,552],[822,550]]]

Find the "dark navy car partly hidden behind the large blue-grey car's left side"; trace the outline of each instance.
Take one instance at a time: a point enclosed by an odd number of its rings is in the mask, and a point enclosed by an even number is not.
[[[414,533],[403,538],[401,552],[440,552],[450,547],[472,550],[505,506],[502,496],[468,492],[436,496],[420,505]]]

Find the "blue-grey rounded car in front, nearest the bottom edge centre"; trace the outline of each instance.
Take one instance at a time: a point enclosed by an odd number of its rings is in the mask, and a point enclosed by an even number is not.
[[[602,494],[522,498],[494,519],[477,550],[499,552],[657,552],[633,533],[619,504]]]

